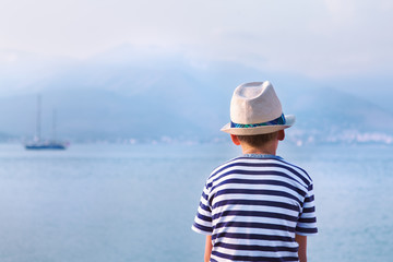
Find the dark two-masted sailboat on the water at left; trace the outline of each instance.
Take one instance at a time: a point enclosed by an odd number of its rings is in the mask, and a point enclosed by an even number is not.
[[[36,122],[36,136],[34,141],[25,144],[26,150],[66,150],[67,144],[56,140],[56,111],[53,110],[52,122],[52,140],[45,141],[40,138],[40,96],[37,97],[37,122]]]

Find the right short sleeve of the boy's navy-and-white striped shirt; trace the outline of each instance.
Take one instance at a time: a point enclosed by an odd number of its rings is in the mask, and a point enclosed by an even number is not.
[[[301,236],[311,236],[318,233],[313,184],[311,183],[307,190],[302,211],[296,225],[296,234]]]

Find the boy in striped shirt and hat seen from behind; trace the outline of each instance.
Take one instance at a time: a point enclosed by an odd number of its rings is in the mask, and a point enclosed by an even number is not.
[[[318,231],[312,180],[276,156],[295,117],[266,81],[235,90],[230,120],[222,131],[243,155],[213,170],[192,225],[206,235],[205,262],[306,262],[307,236]]]

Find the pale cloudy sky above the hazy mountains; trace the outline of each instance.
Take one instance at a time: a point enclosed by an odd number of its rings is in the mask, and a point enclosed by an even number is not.
[[[128,44],[317,80],[389,75],[390,0],[1,0],[0,66]]]

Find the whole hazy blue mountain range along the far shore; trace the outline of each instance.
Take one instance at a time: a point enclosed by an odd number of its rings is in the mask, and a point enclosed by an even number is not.
[[[44,67],[45,69],[45,67]],[[43,72],[43,71],[40,71]],[[29,139],[41,96],[41,133],[70,141],[217,141],[229,121],[234,88],[269,79],[285,114],[297,116],[294,143],[393,143],[393,114],[340,88],[237,63],[195,63],[182,57],[140,55],[129,48],[63,63],[32,79],[7,79],[0,97],[0,139]],[[16,88],[17,87],[17,88]]]

